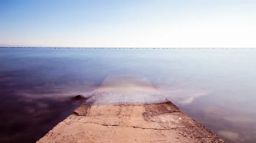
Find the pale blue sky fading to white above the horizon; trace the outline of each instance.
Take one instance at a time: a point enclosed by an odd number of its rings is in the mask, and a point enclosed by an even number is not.
[[[0,46],[256,48],[256,0],[0,0]]]

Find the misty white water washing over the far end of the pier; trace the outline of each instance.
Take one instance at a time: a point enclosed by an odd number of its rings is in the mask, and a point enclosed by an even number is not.
[[[87,100],[97,105],[155,104],[166,101],[146,78],[128,75],[108,76],[92,98]]]

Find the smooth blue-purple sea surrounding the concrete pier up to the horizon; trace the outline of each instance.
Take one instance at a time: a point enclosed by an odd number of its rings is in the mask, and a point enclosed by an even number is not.
[[[0,48],[0,142],[35,142],[108,75],[147,78],[230,143],[256,143],[255,49]]]

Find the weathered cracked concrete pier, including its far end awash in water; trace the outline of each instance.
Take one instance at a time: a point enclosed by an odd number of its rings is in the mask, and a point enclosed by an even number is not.
[[[105,142],[225,143],[181,112],[147,80],[129,77],[105,79],[73,115],[37,143]]]

